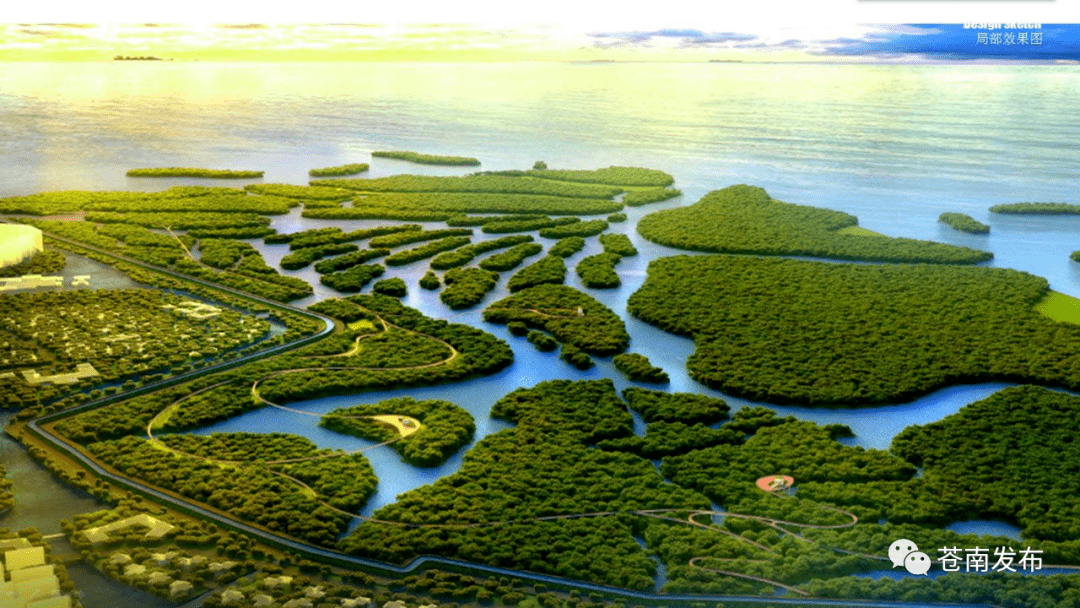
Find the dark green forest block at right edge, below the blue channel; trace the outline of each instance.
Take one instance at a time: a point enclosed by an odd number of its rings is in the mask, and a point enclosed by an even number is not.
[[[892,449],[922,468],[927,502],[936,497],[939,509],[958,518],[1015,523],[1026,538],[1074,541],[1077,559],[1080,498],[1062,481],[1076,477],[1080,458],[1071,425],[1063,422],[1078,415],[1080,397],[1013,387],[941,421],[904,429]]]

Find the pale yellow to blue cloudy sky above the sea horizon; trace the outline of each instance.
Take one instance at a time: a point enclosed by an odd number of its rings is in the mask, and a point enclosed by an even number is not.
[[[5,8],[0,60],[1080,60],[1080,27],[1050,25],[1080,23],[1063,0],[726,4],[40,0]]]

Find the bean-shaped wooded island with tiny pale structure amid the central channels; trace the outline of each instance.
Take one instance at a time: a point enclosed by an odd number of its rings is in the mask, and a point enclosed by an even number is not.
[[[501,299],[484,311],[489,323],[524,322],[544,329],[563,344],[600,356],[626,350],[630,335],[609,308],[566,285],[537,285]]]

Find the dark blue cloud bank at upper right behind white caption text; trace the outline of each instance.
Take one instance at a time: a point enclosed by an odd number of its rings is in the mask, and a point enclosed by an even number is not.
[[[964,29],[963,25],[882,27],[862,38],[821,41],[815,55],[939,60],[1080,60],[1080,26],[1003,24],[1020,27]],[[1031,27],[1024,27],[1031,26]],[[985,38],[980,38],[985,35]],[[1036,43],[1038,41],[1038,43]]]

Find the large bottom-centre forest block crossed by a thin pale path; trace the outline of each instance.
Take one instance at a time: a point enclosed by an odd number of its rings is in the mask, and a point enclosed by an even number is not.
[[[341,541],[350,553],[390,562],[453,556],[629,589],[652,587],[654,566],[634,541],[636,518],[536,517],[603,511],[706,508],[696,492],[665,484],[652,464],[590,449],[631,434],[633,420],[610,380],[557,380],[518,389],[491,416],[516,427],[481,440],[461,468],[402,495],[375,517],[407,524],[496,526],[414,529],[362,523]]]

